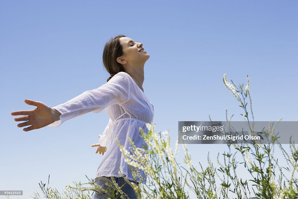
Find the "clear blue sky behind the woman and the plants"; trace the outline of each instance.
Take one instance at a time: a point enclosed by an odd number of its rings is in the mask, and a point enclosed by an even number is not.
[[[150,55],[144,92],[173,145],[178,121],[225,121],[226,109],[243,121],[224,73],[237,84],[249,75],[255,121],[298,121],[297,8],[291,0],[0,1],[1,190],[29,198],[48,175],[59,190],[94,177],[102,156],[91,144],[108,122],[104,111],[29,132],[10,113],[35,108],[26,98],[54,107],[105,84],[103,47],[117,34]],[[226,149],[188,147],[195,165]]]

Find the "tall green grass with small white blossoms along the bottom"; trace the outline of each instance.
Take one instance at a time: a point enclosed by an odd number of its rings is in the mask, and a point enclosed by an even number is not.
[[[223,78],[224,85],[232,92],[239,106],[243,109],[243,118],[249,125],[254,135],[254,115],[252,111],[252,100],[249,92],[249,77],[247,85],[236,86]],[[249,103],[249,106],[248,106]],[[231,121],[233,115],[226,120]],[[211,121],[211,119],[210,119]],[[280,121],[280,120],[279,120]],[[274,134],[276,125],[269,124],[268,129],[263,129],[263,137],[278,141]],[[132,143],[130,151],[119,143],[120,150],[128,163],[134,178],[142,176],[138,173],[139,168],[145,171],[147,183],[139,185],[132,184],[127,179],[138,198],[190,198],[189,191],[195,193],[196,198],[298,198],[298,149],[290,140],[290,152],[287,152],[281,144],[227,144],[226,152],[217,156],[215,167],[209,155],[208,166],[203,167],[201,163],[198,168],[191,163],[190,153],[185,144],[181,144],[184,150],[185,167],[176,161],[179,151],[178,139],[175,148],[170,145],[169,132],[155,131],[155,124],[147,124],[148,134],[140,128],[142,138],[145,140],[143,148],[136,148]],[[280,161],[274,157],[274,146],[278,146],[283,153],[287,166],[280,166]],[[239,174],[246,172],[247,179]],[[87,176],[86,176],[87,177]],[[125,178],[125,176],[123,176]],[[89,179],[88,183],[75,183],[75,186],[67,186],[63,193],[54,188],[46,187],[46,183],[39,183],[44,198],[90,198],[91,191],[99,191],[103,188]],[[49,184],[49,181],[48,181]],[[82,185],[90,185],[83,186]],[[107,181],[108,194],[111,198],[127,198],[114,179]],[[9,198],[9,197],[7,197]],[[40,195],[34,192],[32,198],[40,199]]]

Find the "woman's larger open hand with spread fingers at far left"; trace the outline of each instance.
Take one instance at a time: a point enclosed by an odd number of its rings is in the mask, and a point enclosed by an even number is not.
[[[25,99],[25,103],[36,106],[36,108],[33,110],[14,111],[11,113],[11,115],[26,115],[15,118],[15,121],[27,121],[18,124],[18,127],[31,125],[30,127],[24,128],[23,131],[40,129],[59,120],[59,116],[61,115],[61,113],[58,112],[56,109],[52,109],[51,107],[40,101]]]

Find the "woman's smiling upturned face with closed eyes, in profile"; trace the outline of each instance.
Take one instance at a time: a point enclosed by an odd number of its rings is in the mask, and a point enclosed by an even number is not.
[[[117,58],[117,61],[121,64],[129,66],[138,66],[149,59],[150,55],[145,51],[140,52],[143,49],[142,43],[136,43],[129,37],[119,38],[120,44],[122,45],[123,55]]]

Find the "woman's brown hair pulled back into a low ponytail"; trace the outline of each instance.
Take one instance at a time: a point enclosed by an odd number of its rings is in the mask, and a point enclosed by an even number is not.
[[[110,38],[103,49],[103,65],[111,75],[111,77],[107,79],[107,82],[118,72],[125,72],[123,65],[117,62],[117,57],[123,55],[122,45],[119,40],[121,37],[126,36],[117,35],[114,38]]]

